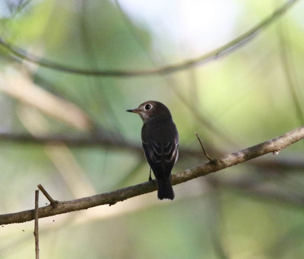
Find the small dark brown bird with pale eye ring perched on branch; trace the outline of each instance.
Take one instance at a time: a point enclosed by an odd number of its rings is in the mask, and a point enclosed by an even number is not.
[[[158,199],[174,199],[171,170],[178,158],[178,132],[169,109],[161,102],[144,102],[137,109],[143,120],[141,140],[145,157],[157,179]],[[151,178],[151,170],[150,177]]]

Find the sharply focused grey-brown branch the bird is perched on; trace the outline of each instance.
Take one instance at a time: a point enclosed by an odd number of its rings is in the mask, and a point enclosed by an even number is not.
[[[184,172],[174,174],[172,175],[172,185],[177,185],[182,182],[222,170],[264,154],[278,154],[281,149],[301,140],[302,138],[304,138],[304,126],[285,133],[284,135],[276,137],[272,140],[257,144],[253,147],[248,147],[223,157],[219,157],[216,159],[216,163],[208,162],[206,164],[200,164],[187,169]],[[144,182],[108,193],[93,195],[71,201],[58,202],[55,207],[52,205],[40,207],[38,211],[39,218],[88,209],[99,205],[114,205],[116,202],[124,201],[148,192],[153,192],[156,191],[156,189],[157,185],[155,185],[153,182]],[[22,223],[33,220],[34,218],[35,211],[33,209],[17,213],[3,214],[0,215],[0,225]]]

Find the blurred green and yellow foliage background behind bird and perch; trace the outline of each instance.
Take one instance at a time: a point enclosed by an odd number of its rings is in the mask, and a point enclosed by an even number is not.
[[[125,112],[147,100],[177,125],[173,174],[207,162],[195,131],[219,157],[302,126],[304,2],[289,2],[225,55],[126,76],[208,55],[285,1],[2,0],[0,214],[33,209],[37,184],[62,201],[147,181],[142,122]],[[40,258],[302,258],[303,151],[174,186],[172,202],[153,192],[40,219]],[[0,257],[34,258],[33,228],[0,226]]]

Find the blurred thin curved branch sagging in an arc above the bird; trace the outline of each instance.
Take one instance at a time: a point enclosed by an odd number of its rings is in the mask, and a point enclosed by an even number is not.
[[[91,75],[91,76],[108,76],[108,77],[130,77],[130,76],[143,76],[143,75],[154,75],[154,74],[171,74],[176,71],[185,70],[189,67],[202,64],[203,62],[207,62],[210,60],[214,60],[223,55],[229,54],[232,51],[236,50],[244,43],[252,39],[257,35],[262,29],[265,29],[267,26],[272,24],[276,19],[281,17],[288,9],[296,3],[298,0],[289,0],[285,4],[283,4],[279,9],[273,12],[266,19],[262,20],[256,26],[248,30],[246,33],[237,37],[236,39],[230,41],[224,46],[209,52],[208,54],[202,55],[192,60],[183,61],[178,64],[172,64],[165,67],[159,67],[154,69],[146,69],[146,70],[132,70],[132,71],[124,71],[124,70],[85,70],[79,69],[75,67],[69,67],[62,64],[56,64],[53,61],[41,59],[39,57],[35,57],[33,55],[23,54],[25,51],[17,50],[14,47],[10,46],[3,39],[0,38],[0,48],[2,51],[5,51],[7,54],[12,56],[17,60],[26,60],[30,63],[37,64],[41,67],[47,67],[49,69],[54,69],[57,71],[73,73],[73,74],[81,74],[81,75]]]

